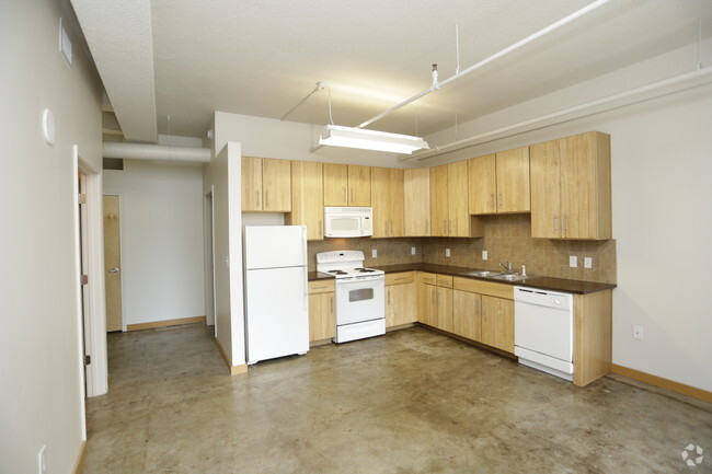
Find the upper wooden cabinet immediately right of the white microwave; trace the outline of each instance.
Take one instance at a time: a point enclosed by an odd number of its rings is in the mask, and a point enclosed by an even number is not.
[[[403,236],[403,170],[371,169],[374,238]]]

